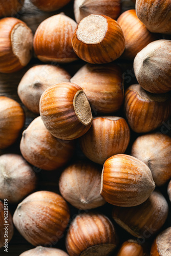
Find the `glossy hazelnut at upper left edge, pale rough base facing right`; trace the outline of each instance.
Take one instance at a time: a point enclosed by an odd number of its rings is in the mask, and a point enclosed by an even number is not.
[[[27,66],[32,57],[33,34],[17,18],[0,20],[0,72],[12,73]]]

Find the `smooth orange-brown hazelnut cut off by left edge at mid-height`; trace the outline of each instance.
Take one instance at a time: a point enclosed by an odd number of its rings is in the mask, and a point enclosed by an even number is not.
[[[15,100],[0,97],[0,149],[12,145],[19,136],[25,122],[22,107]]]

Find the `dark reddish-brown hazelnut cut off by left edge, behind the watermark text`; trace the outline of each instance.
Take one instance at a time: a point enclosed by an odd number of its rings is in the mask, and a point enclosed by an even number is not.
[[[8,205],[8,200],[5,200],[5,202],[0,201],[0,230],[1,230],[1,232],[0,232],[0,248],[5,246],[5,241],[6,241],[5,237],[7,235],[7,230],[8,230],[8,243],[11,241],[13,232],[14,232],[14,227],[12,224],[12,216],[10,214],[10,211],[7,210],[7,205]],[[7,223],[5,223],[5,222],[7,222]],[[8,226],[8,228],[6,228],[7,226]]]

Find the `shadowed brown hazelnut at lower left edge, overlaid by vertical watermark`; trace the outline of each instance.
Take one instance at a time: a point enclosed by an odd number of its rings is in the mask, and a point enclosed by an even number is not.
[[[8,202],[8,201],[6,201]],[[4,246],[4,243],[5,243],[5,238],[4,238],[4,235],[5,235],[5,229],[4,227],[7,227],[6,224],[8,224],[8,243],[10,242],[12,236],[13,236],[13,232],[14,232],[14,227],[13,227],[13,224],[12,224],[12,216],[10,214],[10,211],[8,210],[8,222],[5,223],[4,221],[4,214],[6,214],[7,212],[6,211],[6,208],[4,209],[4,202],[0,201],[0,248],[2,248]]]

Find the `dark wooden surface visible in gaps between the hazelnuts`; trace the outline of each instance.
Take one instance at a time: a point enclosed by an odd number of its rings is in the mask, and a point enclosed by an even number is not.
[[[134,9],[134,8],[135,8],[135,5],[133,4],[133,2],[131,0],[122,1],[122,12],[125,10],[128,10],[128,9]],[[40,22],[42,22],[42,20],[44,20],[45,18],[47,18],[51,15],[54,15],[54,14],[57,14],[60,12],[65,12],[66,15],[74,18],[73,1],[69,5],[67,5],[65,8],[63,8],[57,12],[45,13],[45,12],[39,11],[28,0],[25,0],[24,8],[20,12],[19,16],[17,16],[17,17],[24,20],[24,22],[26,22],[28,24],[28,26],[32,29],[32,31],[35,32],[36,28],[38,27]],[[123,73],[125,75],[124,88],[126,89],[128,86],[130,86],[130,84],[136,83],[136,79],[135,79],[135,76],[133,73],[133,62],[132,61],[124,61],[122,59],[116,60],[115,62],[118,63],[118,65],[122,67]],[[18,95],[17,95],[18,83],[19,83],[20,79],[23,77],[23,75],[25,74],[25,72],[30,67],[32,67],[33,65],[36,65],[38,63],[41,63],[41,62],[34,57],[30,61],[28,67],[24,68],[23,70],[13,73],[13,74],[0,74],[0,95],[4,95],[4,96],[10,97],[12,99],[15,99],[20,104],[22,104],[22,102],[20,102]],[[84,63],[85,62],[78,60],[76,62],[69,63],[67,65],[63,65],[63,68],[65,68],[73,76],[76,73],[76,71],[81,66],[84,65]],[[26,113],[26,122],[25,122],[25,127],[24,127],[24,129],[26,129],[26,127],[36,117],[36,115],[34,115],[30,111],[28,111],[23,104],[22,104],[22,106]],[[93,115],[95,116],[96,113],[93,113]],[[122,109],[118,113],[114,113],[114,115],[124,116]],[[168,131],[168,133],[169,133],[169,131]],[[127,151],[126,151],[127,154],[130,153],[131,145],[137,136],[138,135],[136,135],[134,133],[131,134],[131,142],[130,142],[129,147],[127,148]],[[20,138],[21,138],[21,135],[14,145],[7,148],[6,150],[0,151],[0,155],[5,154],[5,153],[20,154],[20,151],[19,151]],[[81,158],[85,158],[85,157],[81,153],[79,145],[77,144],[77,150],[76,150],[73,160],[78,159],[78,158],[81,159]],[[61,169],[58,169],[55,172],[47,172],[46,170],[40,170],[37,173],[38,180],[39,180],[37,190],[51,190],[51,191],[55,191],[55,192],[59,193],[58,179],[59,179],[60,173],[61,173]],[[166,186],[160,188],[160,190],[165,195],[165,197],[168,201],[168,196],[166,193]],[[168,201],[168,203],[169,203],[169,201]],[[17,205],[9,205],[9,209],[12,214],[13,214],[16,206]],[[72,207],[71,205],[70,205],[70,209],[71,209],[71,220],[72,220],[74,218],[74,216],[76,214],[78,214],[80,211],[78,209]],[[103,212],[106,216],[108,216],[111,219],[112,205],[106,204],[105,207],[100,207],[97,210]],[[116,229],[119,234],[120,243],[122,243],[123,241],[125,241],[127,239],[132,238],[132,236],[130,234],[128,234],[123,229],[121,229],[117,224],[115,224],[115,226],[116,226]],[[171,226],[170,211],[169,211],[168,219],[167,219],[163,229],[168,226]],[[66,230],[66,232],[67,232],[67,230]],[[151,240],[149,240],[149,242],[147,242],[148,246],[151,245],[152,240],[153,240],[153,238]],[[65,249],[65,237],[63,237],[57,244],[55,244],[54,247],[66,250]],[[22,253],[28,249],[31,249],[31,248],[34,248],[34,247],[31,244],[29,244],[22,236],[20,236],[18,231],[15,229],[14,236],[8,246],[8,253],[4,252],[4,249],[2,248],[2,249],[0,249],[0,255],[1,256],[3,256],[3,255],[18,256],[20,253]]]

